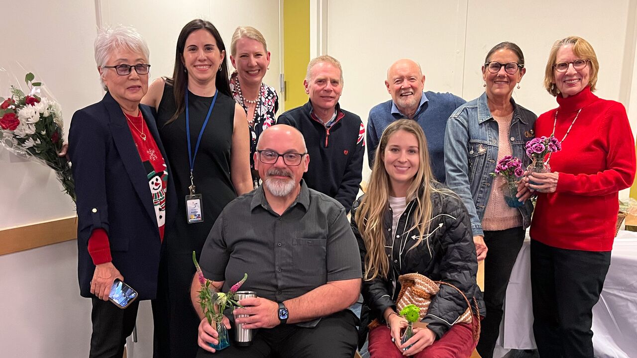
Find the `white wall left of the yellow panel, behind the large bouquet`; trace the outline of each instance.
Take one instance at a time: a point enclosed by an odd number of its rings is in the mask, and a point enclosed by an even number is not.
[[[172,75],[176,38],[183,25],[196,17],[218,27],[228,50],[237,26],[259,29],[272,53],[264,81],[278,83],[278,0],[33,0],[13,2],[11,15],[0,21],[4,34],[0,96],[8,95],[10,84],[23,81],[25,73],[14,63],[19,61],[52,91],[68,131],[73,113],[103,96],[93,57],[98,24],[137,27],[150,47],[151,78],[157,78]],[[0,148],[0,229],[75,215],[73,202],[60,190],[50,169]],[[0,256],[0,273],[1,357],[88,355],[90,300],[80,297],[76,241]],[[148,302],[140,305],[138,338],[129,358],[150,357]]]

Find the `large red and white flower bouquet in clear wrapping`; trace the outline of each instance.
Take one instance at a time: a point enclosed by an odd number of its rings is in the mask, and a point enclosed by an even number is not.
[[[29,94],[11,86],[11,96],[0,97],[0,143],[11,153],[32,159],[54,169],[66,194],[75,201],[71,163],[57,154],[64,145],[62,113],[59,104],[41,94],[41,82],[27,73]]]

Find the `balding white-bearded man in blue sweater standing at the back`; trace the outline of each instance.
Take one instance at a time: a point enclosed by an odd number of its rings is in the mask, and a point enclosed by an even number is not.
[[[378,104],[369,111],[367,145],[369,168],[380,136],[385,127],[401,118],[413,119],[422,127],[427,138],[431,169],[436,179],[445,182],[445,127],[447,119],[466,101],[450,93],[423,92],[425,76],[420,65],[410,59],[401,59],[387,70],[385,86],[392,96],[390,101]]]

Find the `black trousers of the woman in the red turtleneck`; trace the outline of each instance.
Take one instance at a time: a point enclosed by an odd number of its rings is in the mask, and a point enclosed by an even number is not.
[[[542,358],[593,358],[592,308],[610,251],[565,250],[531,240],[533,334]]]

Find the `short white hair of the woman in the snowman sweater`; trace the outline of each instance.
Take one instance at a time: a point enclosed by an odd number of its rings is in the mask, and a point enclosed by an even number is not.
[[[125,48],[143,54],[146,59],[150,59],[150,50],[146,40],[141,37],[134,27],[124,25],[107,26],[97,31],[97,38],[94,43],[95,62],[98,68],[104,68],[110,59],[111,53],[117,48]],[[108,90],[101,76],[99,81],[104,90]]]

